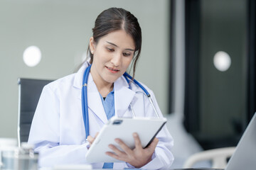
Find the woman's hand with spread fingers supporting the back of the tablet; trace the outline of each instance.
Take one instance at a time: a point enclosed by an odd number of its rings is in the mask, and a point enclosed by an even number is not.
[[[133,137],[135,142],[134,149],[130,149],[124,142],[122,142],[122,140],[115,139],[115,142],[119,144],[123,151],[120,151],[117,147],[114,147],[114,145],[109,145],[114,153],[106,152],[106,154],[120,161],[127,162],[136,168],[140,168],[149,163],[159,140],[155,137],[151,144],[143,149],[142,143],[139,140],[139,135],[134,133]]]

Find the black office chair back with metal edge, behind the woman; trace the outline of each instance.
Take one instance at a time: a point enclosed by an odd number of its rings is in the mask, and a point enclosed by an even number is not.
[[[33,115],[43,86],[53,80],[18,79],[18,146],[28,142]]]

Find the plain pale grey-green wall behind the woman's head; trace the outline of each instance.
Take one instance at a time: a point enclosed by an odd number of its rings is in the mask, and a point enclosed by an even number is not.
[[[73,73],[87,50],[97,15],[112,6],[137,16],[142,55],[136,78],[154,91],[161,111],[168,110],[168,0],[0,0],[0,137],[16,137],[18,77],[58,79]],[[23,63],[23,50],[41,48],[36,67]]]

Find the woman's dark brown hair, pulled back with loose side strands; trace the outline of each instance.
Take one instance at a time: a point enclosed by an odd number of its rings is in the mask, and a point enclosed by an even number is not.
[[[139,26],[137,18],[129,11],[123,8],[108,8],[102,11],[97,16],[95,21],[95,27],[92,28],[92,37],[97,42],[102,36],[107,35],[115,30],[125,30],[125,32],[132,36],[135,44],[134,57],[132,60],[133,65],[133,77],[135,75],[136,64],[139,59],[140,52],[142,50],[142,30]],[[93,61],[93,54],[88,46],[87,54],[90,57],[90,63]]]

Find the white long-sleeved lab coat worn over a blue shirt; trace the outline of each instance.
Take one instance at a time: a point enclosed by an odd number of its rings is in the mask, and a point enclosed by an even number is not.
[[[39,166],[41,167],[87,164],[85,154],[88,144],[85,142],[81,104],[82,75],[87,65],[85,62],[76,74],[53,81],[43,88],[28,138],[28,143],[35,145],[35,150],[40,154]],[[135,93],[142,89],[134,84],[131,84],[131,89],[124,77],[114,82],[115,116],[131,117],[129,104],[132,103],[137,117],[155,117],[149,99],[142,93]],[[163,116],[153,92],[146,89],[151,94],[156,110],[160,116]],[[107,116],[91,75],[88,77],[87,98],[90,135],[94,137],[96,132],[100,132],[102,126],[107,123]],[[143,169],[168,168],[174,160],[171,154],[174,142],[166,125],[156,137],[159,143],[152,161],[143,166]],[[92,164],[92,167],[101,169],[103,164],[103,162]],[[114,163],[114,168],[127,167],[131,166],[125,162]]]

